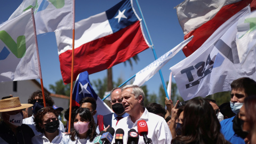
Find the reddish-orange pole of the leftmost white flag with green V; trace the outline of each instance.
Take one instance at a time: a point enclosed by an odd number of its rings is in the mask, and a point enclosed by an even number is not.
[[[32,14],[32,19],[33,19],[33,27],[34,27],[34,34],[35,34],[35,41],[36,41],[36,54],[37,54],[37,61],[38,61],[38,71],[39,71],[39,77],[40,77],[40,81],[41,81],[41,89],[42,89],[44,107],[46,107],[45,96],[44,96],[44,84],[43,84],[42,71],[41,71],[41,63],[40,63],[40,59],[39,59],[37,36],[36,36],[36,23],[35,23],[35,17],[34,17],[34,10],[33,10],[33,8],[31,9],[31,14]]]

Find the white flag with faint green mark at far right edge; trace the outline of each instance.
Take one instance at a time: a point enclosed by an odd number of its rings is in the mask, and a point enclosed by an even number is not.
[[[253,53],[256,44],[256,11],[238,20],[236,44],[238,57],[243,65],[250,53]],[[246,67],[246,65],[243,65]]]

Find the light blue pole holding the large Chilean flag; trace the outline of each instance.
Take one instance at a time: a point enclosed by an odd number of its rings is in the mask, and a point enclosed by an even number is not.
[[[132,1],[132,0],[131,0],[131,1]],[[151,49],[152,49],[152,51],[153,51],[153,53],[154,53],[155,60],[157,60],[155,48],[154,48],[153,42],[152,42],[152,40],[151,40],[151,37],[150,37],[150,35],[149,35],[148,27],[147,27],[146,22],[145,22],[145,20],[144,20],[144,17],[143,17],[142,11],[141,11],[141,9],[140,9],[140,5],[139,5],[138,0],[136,0],[136,3],[137,3],[137,6],[138,6],[138,9],[139,9],[139,11],[140,11],[140,15],[141,15],[141,17],[142,17],[142,23],[143,23],[144,27],[146,28],[146,32],[147,32],[147,35],[148,35],[148,37],[149,37],[149,42],[150,42],[150,45],[151,45]],[[164,83],[164,78],[163,78],[163,74],[162,74],[162,70],[161,70],[161,69],[159,69],[159,75],[160,75],[161,80],[162,80],[162,83],[163,83],[163,87],[164,87],[164,92],[165,92],[166,98],[169,98],[169,97],[168,97],[167,90],[166,90],[166,86],[165,86],[165,83]]]

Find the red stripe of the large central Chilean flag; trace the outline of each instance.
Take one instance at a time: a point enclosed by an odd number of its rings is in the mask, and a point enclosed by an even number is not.
[[[85,70],[89,74],[108,69],[124,62],[149,46],[142,35],[140,22],[116,33],[83,44],[75,49],[74,78]],[[71,81],[71,53],[68,50],[59,55],[63,82]]]

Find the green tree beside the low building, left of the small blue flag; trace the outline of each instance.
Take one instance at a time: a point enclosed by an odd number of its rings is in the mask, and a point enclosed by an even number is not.
[[[55,85],[50,84],[49,89],[55,94],[62,94],[70,97],[70,85],[71,83],[65,85],[63,80],[60,79],[59,81],[55,82]]]

